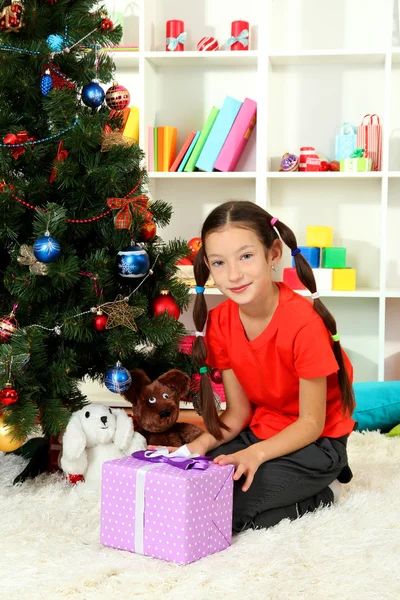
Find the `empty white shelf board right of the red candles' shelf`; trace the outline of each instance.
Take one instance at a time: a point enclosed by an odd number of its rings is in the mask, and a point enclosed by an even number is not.
[[[351,52],[347,50],[304,50],[301,52],[269,53],[269,61],[273,66],[293,65],[340,65],[366,64],[383,65],[385,52]]]

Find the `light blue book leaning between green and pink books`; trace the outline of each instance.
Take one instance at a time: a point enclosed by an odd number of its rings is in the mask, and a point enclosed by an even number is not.
[[[242,102],[240,100],[236,100],[231,96],[225,98],[206,143],[196,161],[196,167],[201,171],[213,171],[218,155],[241,107]]]

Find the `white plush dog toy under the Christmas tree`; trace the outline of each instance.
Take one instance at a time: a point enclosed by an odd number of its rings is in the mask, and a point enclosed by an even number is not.
[[[124,410],[88,404],[72,414],[62,447],[64,473],[83,475],[85,483],[99,489],[103,462],[146,450],[147,444]]]

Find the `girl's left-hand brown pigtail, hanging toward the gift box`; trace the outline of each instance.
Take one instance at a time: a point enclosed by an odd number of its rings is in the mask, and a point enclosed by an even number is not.
[[[204,298],[204,286],[210,275],[210,270],[204,261],[204,246],[198,251],[194,261],[194,276],[196,279],[196,299],[193,308],[193,321],[197,332],[203,332],[207,322],[207,304]],[[207,430],[217,440],[222,440],[221,429],[229,431],[229,427],[221,421],[214,400],[210,375],[206,364],[207,347],[202,335],[196,336],[193,343],[193,360],[200,371],[199,413],[202,415]]]

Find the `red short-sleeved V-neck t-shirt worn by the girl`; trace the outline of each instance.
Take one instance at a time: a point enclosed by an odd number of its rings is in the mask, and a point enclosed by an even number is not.
[[[354,421],[343,416],[337,378],[339,366],[333,341],[312,303],[284,283],[279,304],[266,329],[248,341],[239,307],[226,300],[208,316],[205,342],[207,363],[232,369],[254,405],[253,433],[267,439],[299,417],[299,381],[327,377],[325,427],[321,436],[341,437],[353,430]],[[344,353],[350,381],[352,365]]]

